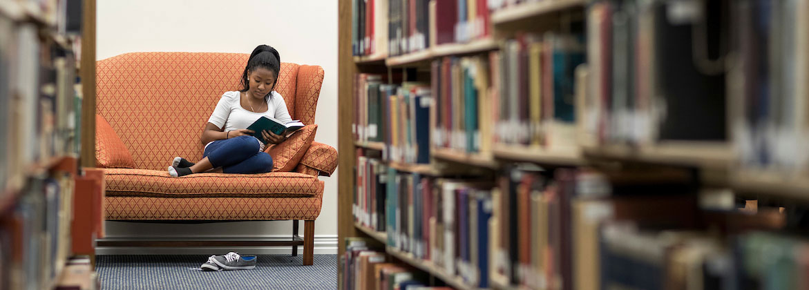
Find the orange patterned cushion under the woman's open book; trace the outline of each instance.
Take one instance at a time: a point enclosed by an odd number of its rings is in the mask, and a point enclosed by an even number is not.
[[[289,139],[281,144],[270,145],[265,152],[273,157],[273,172],[286,172],[295,169],[303,154],[309,149],[311,141],[315,140],[317,125],[306,125],[292,133]]]

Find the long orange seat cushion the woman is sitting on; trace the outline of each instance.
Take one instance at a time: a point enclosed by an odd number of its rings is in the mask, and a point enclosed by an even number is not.
[[[297,172],[201,173],[172,177],[167,171],[104,169],[107,196],[307,197],[323,192],[315,176]]]

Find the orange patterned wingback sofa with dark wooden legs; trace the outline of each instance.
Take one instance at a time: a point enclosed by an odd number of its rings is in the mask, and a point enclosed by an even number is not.
[[[105,217],[164,222],[292,220],[290,241],[220,241],[205,246],[293,246],[292,254],[297,255],[302,245],[303,264],[311,265],[315,219],[324,191],[317,176],[334,172],[336,149],[312,142],[294,172],[172,178],[166,171],[175,156],[201,159],[202,128],[222,93],[241,88],[239,79],[248,56],[126,53],[96,62],[96,112],[121,138],[134,163],[133,168],[104,170]],[[318,65],[282,63],[276,90],[292,119],[315,123],[323,76]],[[96,158],[104,157],[97,154]],[[299,220],[304,221],[303,239],[297,235]],[[194,245],[202,246],[177,241],[100,241],[98,246]]]

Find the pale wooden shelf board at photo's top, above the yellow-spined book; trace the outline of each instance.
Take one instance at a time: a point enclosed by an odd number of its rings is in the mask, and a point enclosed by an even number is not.
[[[492,13],[492,23],[502,24],[528,19],[574,7],[584,7],[585,0],[544,0],[508,6]]]

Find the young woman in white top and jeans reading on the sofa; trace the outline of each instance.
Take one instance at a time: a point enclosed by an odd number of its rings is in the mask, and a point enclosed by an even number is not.
[[[273,158],[264,152],[265,146],[281,143],[286,137],[263,131],[259,140],[246,128],[261,116],[283,123],[292,121],[283,97],[273,90],[280,70],[281,56],[275,48],[262,44],[253,49],[242,74],[242,90],[225,92],[205,124],[200,137],[205,144],[202,160],[192,163],[174,158],[168,173],[177,177],[218,167],[235,174],[272,170]]]

